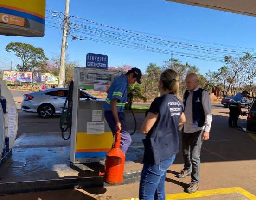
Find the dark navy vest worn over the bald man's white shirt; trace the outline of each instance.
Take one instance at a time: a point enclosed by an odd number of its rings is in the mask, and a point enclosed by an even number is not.
[[[196,91],[193,91],[193,100],[192,100],[192,111],[193,111],[193,127],[202,127],[205,123],[205,112],[202,104],[202,93],[204,89],[199,88]],[[189,95],[189,91],[186,90],[184,94],[184,108],[186,108],[186,100]]]

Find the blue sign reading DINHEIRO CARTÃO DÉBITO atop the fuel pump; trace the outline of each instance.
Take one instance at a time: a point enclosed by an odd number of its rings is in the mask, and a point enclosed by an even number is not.
[[[86,55],[86,67],[95,69],[108,69],[108,56],[103,54]]]

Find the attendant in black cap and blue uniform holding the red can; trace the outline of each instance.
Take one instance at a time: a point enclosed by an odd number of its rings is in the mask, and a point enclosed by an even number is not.
[[[132,139],[126,127],[124,108],[127,101],[128,85],[141,84],[141,70],[134,67],[125,74],[117,77],[107,90],[108,96],[104,103],[104,116],[113,134],[121,130],[121,149],[124,153],[128,150]]]

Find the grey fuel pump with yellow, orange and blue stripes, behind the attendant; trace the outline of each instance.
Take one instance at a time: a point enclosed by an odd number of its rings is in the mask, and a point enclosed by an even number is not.
[[[103,162],[113,144],[113,134],[104,121],[105,99],[81,98],[80,89],[106,91],[119,71],[75,67],[72,89],[70,162]]]

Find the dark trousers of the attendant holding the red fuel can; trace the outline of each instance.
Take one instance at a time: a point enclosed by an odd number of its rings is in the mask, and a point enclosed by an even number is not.
[[[111,129],[111,131],[114,135],[115,132],[116,132],[116,123],[115,123],[115,118],[114,118],[114,115],[112,114],[112,111],[111,110],[110,111],[105,110],[104,116],[105,116],[105,119],[108,122],[109,127],[110,127],[110,129]],[[131,135],[128,132],[127,127],[126,127],[124,112],[118,112],[118,118],[119,118],[119,121],[121,123],[121,144],[120,144],[120,148],[122,149],[122,151],[124,153],[126,153],[129,146],[132,143],[132,138],[131,138]]]

